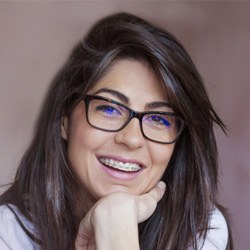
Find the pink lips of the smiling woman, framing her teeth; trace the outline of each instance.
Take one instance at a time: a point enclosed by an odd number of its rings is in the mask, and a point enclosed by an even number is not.
[[[123,163],[136,163],[141,166],[141,169],[136,172],[126,172],[126,171],[118,170],[115,168],[107,167],[100,161],[100,158],[109,158],[109,159],[113,159],[113,160],[120,161]],[[131,158],[126,158],[126,157],[119,157],[119,156],[113,156],[113,155],[98,155],[97,160],[100,164],[101,169],[107,175],[116,179],[120,179],[120,180],[133,180],[138,175],[140,175],[142,171],[146,168],[145,164],[143,164],[142,162],[131,159]]]

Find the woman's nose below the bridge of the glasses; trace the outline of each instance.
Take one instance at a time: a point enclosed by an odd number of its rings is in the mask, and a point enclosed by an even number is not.
[[[116,133],[115,142],[125,145],[130,150],[141,148],[144,143],[144,137],[141,132],[139,120],[130,120],[125,128]]]

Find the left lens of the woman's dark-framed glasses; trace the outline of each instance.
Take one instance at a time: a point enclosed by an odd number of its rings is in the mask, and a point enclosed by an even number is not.
[[[88,107],[89,123],[97,128],[115,131],[120,129],[129,117],[129,111],[112,102],[92,99]]]

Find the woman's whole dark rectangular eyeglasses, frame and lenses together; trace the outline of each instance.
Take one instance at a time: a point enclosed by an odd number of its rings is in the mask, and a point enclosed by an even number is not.
[[[184,121],[172,112],[136,112],[115,100],[94,95],[86,95],[84,102],[89,125],[107,132],[118,132],[131,119],[137,118],[145,138],[157,143],[170,144],[177,140],[185,126]]]

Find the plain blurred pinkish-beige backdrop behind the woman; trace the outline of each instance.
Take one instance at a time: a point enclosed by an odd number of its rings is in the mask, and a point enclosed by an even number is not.
[[[229,128],[228,137],[217,131],[220,200],[232,214],[236,250],[249,249],[250,2],[1,1],[0,185],[13,180],[46,89],[72,46],[95,20],[120,10],[167,27],[196,62]]]

